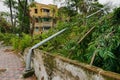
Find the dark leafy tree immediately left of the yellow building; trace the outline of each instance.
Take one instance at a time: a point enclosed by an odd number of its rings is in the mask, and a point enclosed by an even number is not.
[[[22,0],[21,1],[21,4],[22,4],[22,6],[24,6],[24,4],[25,4],[25,1],[24,0]],[[26,33],[26,34],[28,34],[29,33],[29,31],[30,31],[30,18],[29,18],[29,16],[27,15],[27,13],[28,13],[28,7],[27,7],[27,9],[26,9],[26,13],[25,13],[25,11],[23,10],[23,8],[21,7],[21,5],[20,4],[18,4],[18,15],[17,15],[17,17],[18,17],[18,22],[19,22],[19,32],[20,33]],[[25,14],[25,16],[24,16],[24,14]]]

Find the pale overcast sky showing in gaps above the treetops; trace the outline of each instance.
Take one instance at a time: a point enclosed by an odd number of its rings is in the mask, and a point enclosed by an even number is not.
[[[8,11],[8,9],[6,8],[6,6],[4,6],[2,1],[3,0],[0,0],[0,11]],[[44,3],[44,4],[53,4],[53,0],[35,0],[35,1],[37,1],[39,3]],[[105,4],[107,2],[111,2],[114,6],[120,5],[120,0],[99,0],[99,2],[102,3],[102,4]]]

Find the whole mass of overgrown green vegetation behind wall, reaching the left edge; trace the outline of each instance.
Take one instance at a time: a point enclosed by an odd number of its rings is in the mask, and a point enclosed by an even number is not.
[[[59,9],[57,26],[48,32],[31,39],[28,34],[23,33],[19,37],[16,34],[3,34],[2,31],[0,40],[12,45],[15,50],[23,51],[68,27],[64,34],[43,44],[39,49],[120,73],[120,8],[107,15],[101,11],[86,19],[87,15],[99,9],[90,6],[91,9],[87,11],[89,6],[82,0],[70,1],[71,4]],[[103,7],[98,3],[92,5]],[[78,13],[79,10],[82,13]]]

